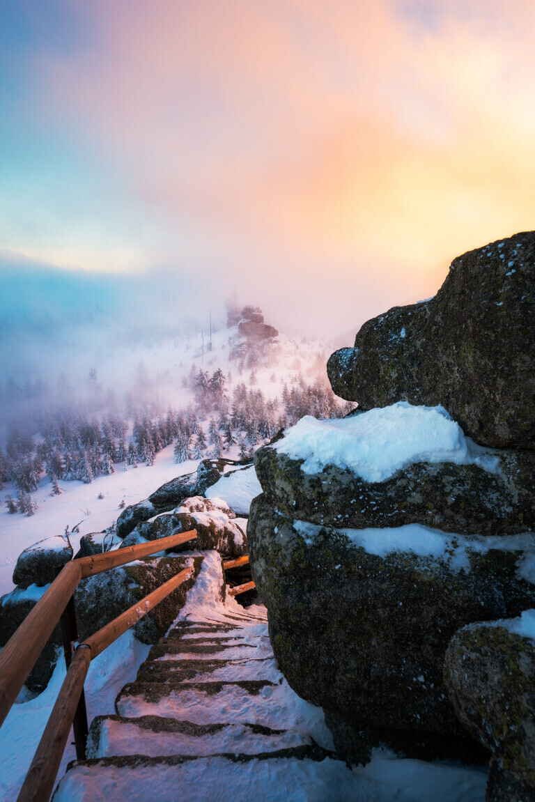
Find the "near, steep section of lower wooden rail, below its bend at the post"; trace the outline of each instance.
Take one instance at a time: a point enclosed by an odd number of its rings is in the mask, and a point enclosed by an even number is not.
[[[67,671],[67,677],[63,680],[17,802],[50,800],[90,662],[91,650],[79,646]]]

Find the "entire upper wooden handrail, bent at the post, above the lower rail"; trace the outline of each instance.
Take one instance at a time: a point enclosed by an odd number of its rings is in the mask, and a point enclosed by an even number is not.
[[[150,543],[128,546],[95,557],[79,557],[68,562],[0,653],[0,727],[80,579],[126,565],[163,549],[172,549],[196,537],[197,530],[191,529],[171,537],[160,537]]]

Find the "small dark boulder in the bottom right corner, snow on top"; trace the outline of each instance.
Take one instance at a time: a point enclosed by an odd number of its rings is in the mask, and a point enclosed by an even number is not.
[[[490,798],[535,799],[533,638],[492,623],[466,626],[448,646],[444,680],[460,721],[494,756]]]

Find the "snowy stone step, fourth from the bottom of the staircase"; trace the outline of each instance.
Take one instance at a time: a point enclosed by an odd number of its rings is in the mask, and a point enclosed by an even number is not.
[[[241,660],[153,660],[141,664],[136,683],[189,683],[210,680],[268,679],[278,683],[280,672],[274,657]]]

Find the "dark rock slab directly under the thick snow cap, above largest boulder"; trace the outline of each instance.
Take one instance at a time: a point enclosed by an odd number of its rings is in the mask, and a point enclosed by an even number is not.
[[[382,482],[334,465],[305,473],[303,460],[273,445],[257,450],[254,465],[274,507],[315,524],[366,529],[415,523],[483,535],[535,529],[535,452],[496,453],[496,473],[479,465],[419,462]]]

